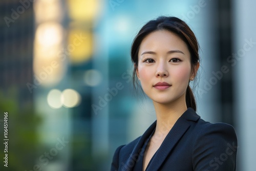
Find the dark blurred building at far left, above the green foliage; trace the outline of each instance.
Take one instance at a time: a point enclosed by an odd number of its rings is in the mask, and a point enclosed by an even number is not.
[[[33,82],[33,9],[20,8],[18,1],[1,1],[0,8],[0,93],[17,98],[24,109],[33,104],[26,86]]]

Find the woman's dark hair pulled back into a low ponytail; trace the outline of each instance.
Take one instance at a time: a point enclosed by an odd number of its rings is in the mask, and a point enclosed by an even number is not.
[[[147,22],[136,35],[133,40],[132,48],[131,48],[131,57],[132,62],[134,64],[133,69],[133,84],[134,88],[139,86],[139,81],[137,78],[136,71],[138,69],[138,52],[140,48],[140,44],[142,40],[150,33],[158,30],[167,30],[172,33],[178,35],[187,45],[188,50],[190,52],[190,62],[191,62],[191,70],[195,72],[195,68],[197,64],[200,62],[199,57],[199,44],[197,38],[193,31],[188,27],[188,25],[183,22],[183,20],[177,17],[169,17],[169,16],[160,16],[157,19],[150,20]],[[195,73],[196,76],[196,73]],[[194,94],[189,87],[187,86],[186,90],[186,105],[187,108],[192,108],[195,111],[197,110],[196,100]]]

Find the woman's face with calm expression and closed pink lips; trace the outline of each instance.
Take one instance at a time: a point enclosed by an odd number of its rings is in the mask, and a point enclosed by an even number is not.
[[[167,104],[185,100],[189,79],[194,78],[185,42],[166,30],[147,35],[138,53],[137,76],[153,101]]]

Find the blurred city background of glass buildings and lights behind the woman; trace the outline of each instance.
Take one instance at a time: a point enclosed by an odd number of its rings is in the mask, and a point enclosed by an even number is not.
[[[238,170],[255,170],[256,16],[252,0],[1,0],[0,158],[8,167],[110,170],[115,149],[155,120],[134,93],[130,47],[159,15],[183,19],[201,46],[197,113],[237,131]]]

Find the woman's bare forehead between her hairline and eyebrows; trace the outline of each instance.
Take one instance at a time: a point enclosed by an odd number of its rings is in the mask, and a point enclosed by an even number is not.
[[[148,34],[140,44],[139,54],[146,50],[181,50],[189,55],[186,43],[177,34],[167,30],[159,30]]]

